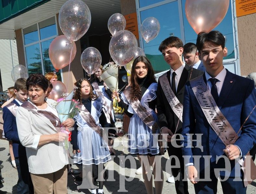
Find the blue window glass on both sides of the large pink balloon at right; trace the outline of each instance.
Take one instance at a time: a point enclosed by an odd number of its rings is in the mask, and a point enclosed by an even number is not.
[[[185,4],[186,4],[186,0],[182,0],[182,14],[183,14],[184,33],[185,33],[185,44],[188,42],[193,42],[196,44],[197,34],[187,21]],[[227,14],[222,20],[222,22],[213,29],[213,30],[220,31],[226,39],[225,46],[227,47],[228,55],[224,57],[224,59],[235,58],[233,23],[232,23],[233,16],[232,16],[231,6],[232,6],[232,3],[229,4]]]

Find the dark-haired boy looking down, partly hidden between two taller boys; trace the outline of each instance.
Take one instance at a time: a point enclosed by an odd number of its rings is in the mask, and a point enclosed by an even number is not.
[[[187,65],[189,66],[193,65],[193,68],[200,71],[205,71],[203,62],[199,59],[197,46],[194,43],[192,42],[186,43],[184,45],[184,50],[182,55]]]

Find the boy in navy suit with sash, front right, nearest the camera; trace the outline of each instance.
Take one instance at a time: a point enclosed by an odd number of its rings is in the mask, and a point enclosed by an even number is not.
[[[239,129],[256,103],[254,82],[224,68],[227,48],[220,32],[200,32],[197,48],[206,71],[185,86],[182,152],[188,156],[188,177],[196,193],[217,193],[219,177],[223,193],[245,194],[238,159],[244,159],[255,144],[255,111]],[[202,149],[195,147],[188,134],[201,134]]]

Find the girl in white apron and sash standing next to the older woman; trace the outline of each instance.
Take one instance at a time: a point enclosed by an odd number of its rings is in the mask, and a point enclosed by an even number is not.
[[[76,154],[76,163],[83,164],[83,172],[75,180],[82,181],[82,178],[88,180],[92,193],[96,193],[95,176],[92,168],[94,165],[104,164],[111,159],[108,135],[103,135],[102,127],[110,127],[106,116],[102,110],[101,97],[93,93],[90,82],[86,79],[80,79],[76,84],[75,99],[79,100],[79,113],[74,117],[76,123],[75,130],[72,131],[71,143],[73,144],[74,154]],[[103,167],[104,168],[104,167]],[[100,168],[98,168],[100,169]],[[99,189],[98,193],[103,193],[104,180],[106,172],[98,172]]]

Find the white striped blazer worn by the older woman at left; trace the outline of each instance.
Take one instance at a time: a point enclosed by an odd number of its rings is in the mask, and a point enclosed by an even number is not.
[[[47,99],[46,102],[53,108],[54,100]],[[66,150],[62,143],[50,142],[38,146],[41,135],[57,133],[57,129],[49,119],[20,106],[17,109],[16,121],[19,140],[26,147],[30,173],[48,174],[56,172],[68,164]]]

